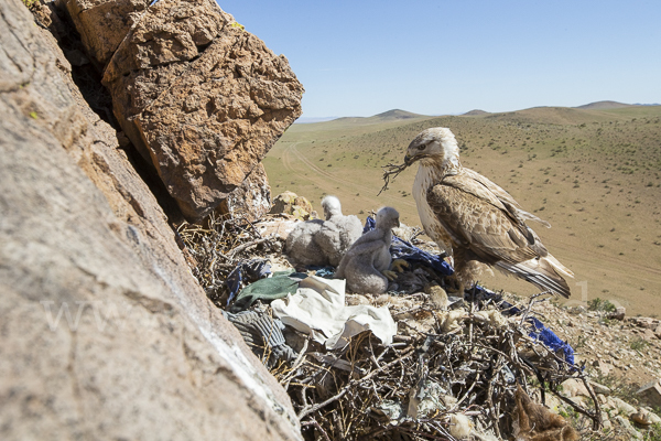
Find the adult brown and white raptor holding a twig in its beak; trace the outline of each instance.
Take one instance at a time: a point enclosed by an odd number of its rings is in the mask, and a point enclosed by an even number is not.
[[[407,165],[420,164],[413,196],[425,233],[454,258],[462,284],[476,281],[484,263],[542,290],[571,295],[563,276],[574,273],[553,257],[525,225],[539,217],[523,211],[500,186],[462,166],[447,128],[422,131],[411,141]]]

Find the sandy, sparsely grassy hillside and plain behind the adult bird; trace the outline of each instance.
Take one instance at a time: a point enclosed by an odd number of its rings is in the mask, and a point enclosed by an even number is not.
[[[382,205],[420,225],[411,189],[415,168],[390,189],[381,166],[403,162],[413,137],[453,130],[462,163],[508,190],[551,222],[531,225],[576,273],[574,299],[606,298],[629,313],[661,313],[661,107],[539,107],[514,112],[425,117],[401,110],[370,118],[292,126],[264,159],[273,194],[291,190],[318,208],[335,194],[345,213]],[[494,289],[533,293],[497,276]],[[573,283],[577,283],[575,287]]]

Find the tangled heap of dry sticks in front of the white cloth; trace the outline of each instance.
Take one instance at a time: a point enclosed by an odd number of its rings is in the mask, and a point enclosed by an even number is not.
[[[433,332],[397,335],[391,346],[362,333],[342,351],[304,349],[293,366],[273,369],[305,439],[455,440],[468,432],[472,439],[507,439],[517,427],[518,385],[529,395],[541,392],[542,402],[551,391],[597,428],[598,411],[556,390],[571,377],[589,388],[581,369],[530,337],[522,319],[505,320],[495,303],[475,301],[454,311],[418,308],[413,315],[431,319]],[[598,409],[594,394],[593,400]]]

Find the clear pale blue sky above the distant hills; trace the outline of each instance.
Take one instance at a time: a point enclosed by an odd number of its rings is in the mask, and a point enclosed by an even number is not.
[[[284,54],[303,117],[661,103],[661,1],[219,0]]]

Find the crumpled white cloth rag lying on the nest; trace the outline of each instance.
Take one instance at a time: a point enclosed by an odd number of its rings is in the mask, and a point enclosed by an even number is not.
[[[388,308],[345,305],[345,284],[343,279],[310,276],[301,280],[295,294],[271,302],[273,315],[327,349],[344,347],[351,336],[367,330],[390,345],[397,324]]]

